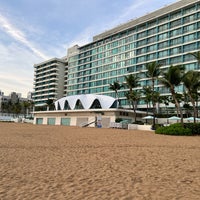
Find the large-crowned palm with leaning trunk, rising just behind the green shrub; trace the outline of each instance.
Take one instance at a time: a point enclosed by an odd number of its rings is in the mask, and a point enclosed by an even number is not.
[[[180,108],[180,102],[178,100],[179,95],[176,93],[175,87],[179,86],[181,84],[184,70],[185,70],[185,68],[182,65],[176,65],[176,66],[171,65],[168,68],[168,71],[163,73],[162,78],[159,79],[160,82],[166,88],[169,88],[169,90],[172,94],[173,102],[175,103],[175,106],[177,108],[177,112],[180,113],[182,124],[183,124],[183,112]]]

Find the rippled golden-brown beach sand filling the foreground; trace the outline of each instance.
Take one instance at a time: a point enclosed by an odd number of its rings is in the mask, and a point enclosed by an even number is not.
[[[1,200],[199,200],[200,137],[0,123]]]

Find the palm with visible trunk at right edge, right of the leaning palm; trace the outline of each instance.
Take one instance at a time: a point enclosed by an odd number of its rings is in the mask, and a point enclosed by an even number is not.
[[[182,80],[183,80],[184,86],[187,89],[187,94],[193,106],[194,123],[195,123],[198,111],[195,105],[194,97],[197,95],[198,89],[200,88],[200,72],[190,70],[184,74]]]

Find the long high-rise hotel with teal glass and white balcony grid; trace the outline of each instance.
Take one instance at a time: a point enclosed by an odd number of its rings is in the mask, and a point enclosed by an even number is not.
[[[185,65],[199,70],[196,59],[189,54],[200,50],[200,1],[181,0],[143,17],[131,20],[93,37],[84,46],[68,49],[68,75],[64,96],[104,94],[115,96],[109,89],[114,81],[123,83],[125,76],[140,77],[140,87],[151,85],[146,77],[146,64],[156,61],[162,70],[170,65]],[[170,95],[159,82],[155,89]],[[183,86],[177,87],[183,92]],[[128,106],[119,91],[122,106]],[[141,99],[139,107],[145,106]]]

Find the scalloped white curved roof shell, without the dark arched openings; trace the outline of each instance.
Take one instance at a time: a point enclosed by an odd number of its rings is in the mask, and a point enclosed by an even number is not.
[[[81,102],[84,109],[90,109],[95,100],[99,101],[102,109],[110,108],[116,101],[115,98],[106,95],[81,94],[81,95],[66,96],[55,102],[56,110],[58,110],[59,105],[60,109],[64,110],[66,102],[68,103],[70,109],[74,110],[78,100]]]

